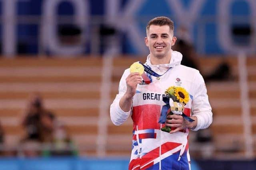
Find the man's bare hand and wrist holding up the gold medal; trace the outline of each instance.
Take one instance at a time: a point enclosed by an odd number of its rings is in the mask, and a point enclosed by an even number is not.
[[[128,75],[126,78],[126,98],[132,98],[136,94],[136,88],[139,83],[142,83],[142,78],[138,72],[133,72]]]

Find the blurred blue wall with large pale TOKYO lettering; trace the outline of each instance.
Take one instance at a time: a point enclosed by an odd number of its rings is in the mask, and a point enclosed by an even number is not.
[[[1,0],[1,49],[4,55],[98,55],[112,47],[145,55],[147,22],[168,16],[175,34],[200,54],[255,53],[255,8],[253,0]]]

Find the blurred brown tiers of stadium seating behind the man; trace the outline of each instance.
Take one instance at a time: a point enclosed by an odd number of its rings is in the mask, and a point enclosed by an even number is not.
[[[240,102],[238,61],[234,56],[198,58],[202,74],[208,74],[224,60],[230,64],[232,79],[206,84],[213,108],[214,121],[210,126],[215,147],[213,156],[223,156],[228,149],[239,146],[232,154],[245,153],[244,124]],[[111,72],[109,106],[118,92],[118,83],[123,71],[135,61],[145,57],[116,57]],[[48,59],[20,57],[0,59],[0,121],[4,127],[6,143],[17,145],[24,134],[20,126],[22,114],[33,92],[40,92],[44,104],[64,122],[68,133],[78,147],[80,155],[96,155],[98,134],[105,130],[106,155],[129,156],[132,140],[132,120],[115,126],[110,121],[109,107],[103,111],[106,126],[100,126],[100,92],[102,66],[100,57],[79,57],[76,59]],[[247,59],[249,97],[251,100],[252,133],[256,148],[256,58]],[[111,67],[110,67],[111,68]],[[193,133],[192,133],[193,135]],[[190,147],[193,147],[191,141]],[[196,145],[194,145],[196,146]],[[254,150],[255,154],[256,150]]]

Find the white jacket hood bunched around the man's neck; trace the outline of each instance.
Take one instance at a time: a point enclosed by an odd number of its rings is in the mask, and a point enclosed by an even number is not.
[[[150,55],[148,55],[147,60],[146,60],[146,64],[150,67],[174,67],[176,65],[180,65],[181,61],[182,61],[182,54],[178,51],[172,51],[171,53],[172,57],[170,59],[170,63],[168,64],[159,64],[159,65],[153,65],[150,61]]]

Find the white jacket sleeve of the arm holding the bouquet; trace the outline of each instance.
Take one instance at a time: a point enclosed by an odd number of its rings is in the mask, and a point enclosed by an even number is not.
[[[212,123],[212,107],[210,106],[204,78],[197,71],[194,80],[194,98],[192,100],[192,116],[197,117],[197,126],[193,131],[206,129]]]

